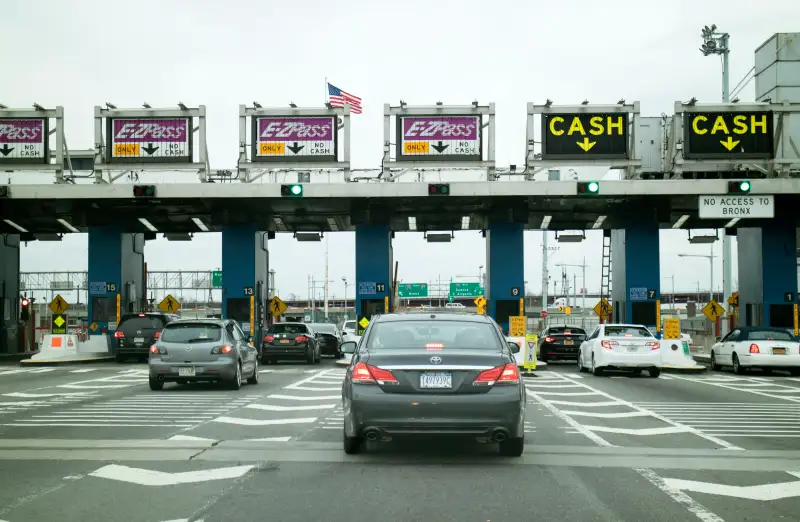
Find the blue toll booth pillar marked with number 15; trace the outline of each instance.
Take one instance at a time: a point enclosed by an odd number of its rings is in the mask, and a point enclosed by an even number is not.
[[[89,228],[89,335],[114,331],[119,316],[146,309],[144,243],[144,234]]]

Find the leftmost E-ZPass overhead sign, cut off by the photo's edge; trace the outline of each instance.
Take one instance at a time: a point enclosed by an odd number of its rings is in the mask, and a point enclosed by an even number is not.
[[[69,169],[64,165],[64,108],[33,107],[0,106],[0,170],[54,171],[56,182],[61,183],[64,169]],[[50,150],[52,134],[56,137],[54,151]]]

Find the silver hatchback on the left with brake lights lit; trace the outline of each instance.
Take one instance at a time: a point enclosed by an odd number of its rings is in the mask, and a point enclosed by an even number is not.
[[[258,383],[258,352],[235,321],[184,319],[164,327],[150,347],[150,389],[166,382],[213,381],[238,390]]]

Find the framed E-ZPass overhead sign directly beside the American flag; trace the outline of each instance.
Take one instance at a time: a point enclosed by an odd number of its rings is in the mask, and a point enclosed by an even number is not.
[[[238,167],[244,171],[245,182],[263,176],[253,176],[250,171],[254,169],[343,170],[348,180],[350,107],[284,109],[240,105],[239,143]]]

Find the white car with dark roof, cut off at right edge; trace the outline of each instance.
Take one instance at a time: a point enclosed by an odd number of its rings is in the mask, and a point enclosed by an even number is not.
[[[720,370],[733,366],[736,373],[748,368],[770,371],[775,368],[800,375],[800,340],[782,328],[743,326],[711,348],[711,367]]]

